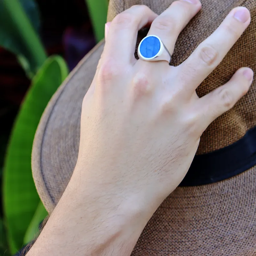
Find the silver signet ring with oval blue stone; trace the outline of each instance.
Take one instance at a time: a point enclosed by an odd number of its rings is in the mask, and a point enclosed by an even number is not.
[[[155,35],[144,37],[138,47],[138,56],[146,61],[166,60],[171,65],[172,55],[162,40]]]

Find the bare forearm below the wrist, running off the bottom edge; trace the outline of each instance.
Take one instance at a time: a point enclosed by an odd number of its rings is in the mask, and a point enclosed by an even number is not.
[[[27,255],[130,255],[152,212],[131,198],[75,187],[66,189]]]

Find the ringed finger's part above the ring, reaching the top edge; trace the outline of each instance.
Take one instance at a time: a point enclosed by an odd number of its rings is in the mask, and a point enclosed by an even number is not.
[[[159,36],[172,54],[174,45],[183,28],[201,9],[199,0],[178,0],[159,15],[149,29],[148,35]]]

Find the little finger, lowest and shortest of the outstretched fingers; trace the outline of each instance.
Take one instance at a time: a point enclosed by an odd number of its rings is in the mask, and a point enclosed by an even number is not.
[[[240,68],[228,83],[206,94],[197,101],[196,111],[199,112],[204,130],[213,120],[232,108],[248,92],[252,80],[252,69]]]

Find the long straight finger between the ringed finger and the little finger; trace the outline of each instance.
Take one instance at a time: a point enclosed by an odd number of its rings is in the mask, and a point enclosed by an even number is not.
[[[250,24],[250,12],[245,7],[233,9],[220,26],[178,66],[177,70],[188,90],[196,87],[220,64]]]

